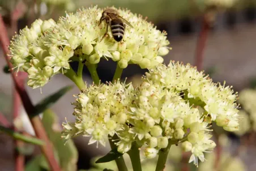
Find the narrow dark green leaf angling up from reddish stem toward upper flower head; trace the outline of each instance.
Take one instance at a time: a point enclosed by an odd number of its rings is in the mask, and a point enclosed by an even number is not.
[[[46,109],[48,109],[51,105],[53,105],[56,101],[59,100],[63,95],[65,95],[66,92],[70,91],[72,86],[66,86],[61,88],[59,91],[56,93],[53,93],[52,95],[46,97],[44,100],[39,102],[35,108],[35,112],[31,114],[29,117],[35,117],[39,115],[40,113],[44,112]]]

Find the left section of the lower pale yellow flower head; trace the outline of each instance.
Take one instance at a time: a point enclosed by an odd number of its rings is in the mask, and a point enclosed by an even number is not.
[[[74,116],[75,123],[63,123],[63,137],[68,140],[72,136],[82,134],[91,136],[89,144],[100,143],[105,146],[108,135],[125,136],[127,113],[133,106],[134,88],[131,84],[91,85],[76,97]],[[131,137],[133,139],[133,137]],[[128,143],[132,140],[127,140]],[[126,144],[128,150],[131,144]]]

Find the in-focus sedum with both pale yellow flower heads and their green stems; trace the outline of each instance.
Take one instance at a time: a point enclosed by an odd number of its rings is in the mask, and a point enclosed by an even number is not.
[[[72,103],[76,121],[63,123],[62,138],[67,142],[74,136],[89,136],[88,144],[97,146],[109,140],[112,151],[97,163],[116,160],[119,170],[127,170],[122,155],[128,153],[133,170],[141,170],[142,152],[143,159],[158,155],[156,170],[163,170],[170,146],[181,144],[191,152],[189,162],[198,165],[198,159],[204,161],[204,153],[216,146],[211,140],[212,122],[227,131],[238,130],[237,93],[189,64],[162,64],[170,49],[167,33],[129,10],[116,10],[133,25],[126,27],[121,42],[110,30],[102,39],[103,9],[81,9],[57,22],[36,20],[20,31],[10,45],[12,64],[28,73],[32,88],[41,88],[55,74],[66,75],[79,87]],[[100,82],[96,68],[101,60],[117,63],[111,83]],[[78,72],[71,62],[79,63]],[[120,80],[130,64],[148,69],[139,86]],[[84,83],[84,65],[92,85]]]

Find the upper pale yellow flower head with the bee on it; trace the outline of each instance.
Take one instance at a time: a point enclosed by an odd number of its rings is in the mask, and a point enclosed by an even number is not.
[[[87,61],[91,64],[100,59],[111,58],[121,68],[128,63],[142,69],[153,68],[163,63],[161,56],[168,54],[167,34],[160,32],[136,14],[116,9],[133,28],[127,26],[121,42],[106,32],[106,23],[99,25],[103,12],[97,7],[67,14],[58,22],[36,20],[31,28],[24,28],[15,35],[10,45],[10,57],[14,67],[28,72],[28,85],[37,88],[48,83],[50,78],[70,70],[70,62]]]

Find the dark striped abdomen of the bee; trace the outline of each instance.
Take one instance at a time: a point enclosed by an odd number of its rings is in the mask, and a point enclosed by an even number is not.
[[[114,40],[121,41],[123,39],[123,34],[125,33],[125,25],[121,20],[115,19],[110,22],[110,28]]]

